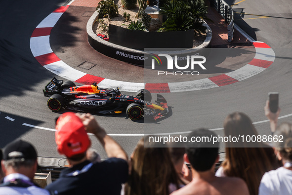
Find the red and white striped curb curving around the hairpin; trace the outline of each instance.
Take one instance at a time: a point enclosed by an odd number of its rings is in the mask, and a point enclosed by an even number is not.
[[[226,74],[209,77],[206,79],[185,81],[177,83],[133,83],[124,81],[115,81],[106,79],[72,68],[63,62],[51,49],[49,37],[52,28],[60,19],[62,14],[67,10],[67,6],[61,6],[49,14],[34,30],[30,48],[34,57],[39,63],[54,74],[65,79],[83,83],[92,84],[96,82],[100,87],[115,88],[119,87],[124,92],[137,92],[140,89],[148,89],[153,93],[173,93],[187,92],[195,90],[210,89],[230,85],[244,79],[250,78],[266,68],[268,68],[275,60],[275,52],[267,44],[263,42],[253,42],[255,48],[255,56],[247,65],[242,68]]]

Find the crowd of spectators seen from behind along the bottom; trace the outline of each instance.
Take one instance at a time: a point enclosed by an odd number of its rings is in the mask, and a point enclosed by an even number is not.
[[[69,168],[42,189],[33,182],[38,167],[37,151],[15,140],[0,152],[0,195],[292,195],[292,124],[278,126],[276,113],[264,107],[271,134],[282,142],[226,143],[225,159],[219,161],[219,143],[187,142],[184,147],[159,147],[143,137],[134,151],[125,150],[91,114],[66,112],[56,121],[57,150]],[[249,116],[241,112],[224,120],[225,136],[258,136]],[[104,148],[101,160],[87,133]],[[216,137],[200,128],[188,138]],[[188,165],[188,166],[187,166]]]

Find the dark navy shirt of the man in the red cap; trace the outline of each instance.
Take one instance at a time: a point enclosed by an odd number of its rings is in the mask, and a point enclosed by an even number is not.
[[[94,164],[86,160],[63,170],[45,189],[54,195],[120,195],[127,177],[128,164],[121,158]]]

